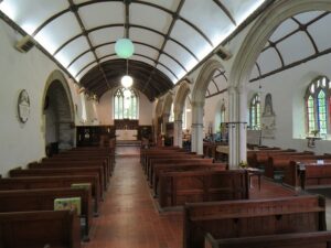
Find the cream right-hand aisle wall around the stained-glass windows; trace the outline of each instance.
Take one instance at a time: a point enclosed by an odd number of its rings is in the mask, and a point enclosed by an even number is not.
[[[320,75],[331,78],[330,60],[330,54],[324,55],[261,80],[261,106],[264,107],[266,94],[270,93],[276,114],[275,139],[263,139],[263,144],[300,151],[312,150],[316,153],[331,151],[331,140],[317,141],[313,149],[307,147],[303,105],[306,88],[312,79]],[[252,90],[253,87],[255,90]],[[257,91],[257,82],[249,84],[248,101]]]

